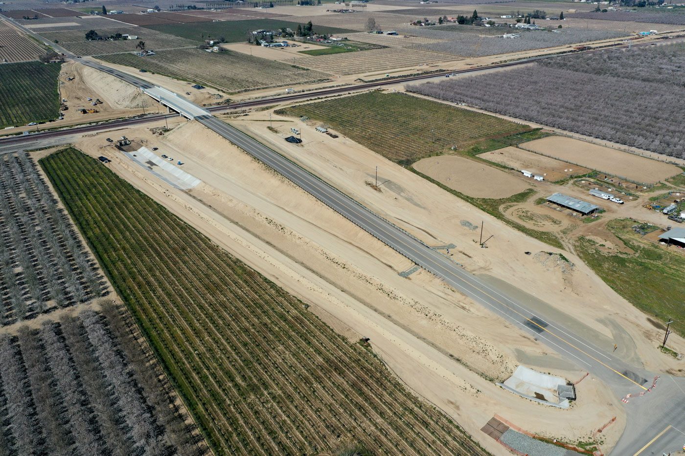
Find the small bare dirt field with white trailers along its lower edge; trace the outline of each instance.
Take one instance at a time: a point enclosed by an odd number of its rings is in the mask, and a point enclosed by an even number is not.
[[[516,170],[527,170],[545,177],[546,181],[556,182],[565,177],[589,173],[588,168],[572,165],[561,160],[545,157],[518,147],[504,147],[478,155],[483,160],[509,166]],[[531,178],[532,179],[532,178]]]

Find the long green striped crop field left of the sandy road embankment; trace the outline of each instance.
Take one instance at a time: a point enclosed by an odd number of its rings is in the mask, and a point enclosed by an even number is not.
[[[68,149],[41,164],[216,455],[486,454],[361,344],[96,160]]]

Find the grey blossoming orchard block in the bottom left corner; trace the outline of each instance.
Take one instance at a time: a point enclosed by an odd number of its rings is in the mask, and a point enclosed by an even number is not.
[[[0,452],[205,454],[158,375],[111,304],[3,333]]]

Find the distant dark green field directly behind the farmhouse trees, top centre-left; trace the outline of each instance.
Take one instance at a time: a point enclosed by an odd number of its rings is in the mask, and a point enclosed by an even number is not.
[[[297,25],[305,25],[305,23],[279,21],[278,19],[248,19],[243,21],[148,25],[145,28],[162,31],[164,34],[179,36],[194,42],[202,42],[205,38],[211,38],[212,36],[215,38],[223,36],[225,42],[240,42],[246,41],[245,31],[257,29],[277,30],[283,27],[295,30]],[[344,34],[349,30],[316,25],[316,22],[314,22],[314,31],[319,34]]]

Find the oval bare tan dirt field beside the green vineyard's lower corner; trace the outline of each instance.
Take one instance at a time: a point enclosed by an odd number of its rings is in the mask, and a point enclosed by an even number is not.
[[[475,198],[506,198],[528,186],[506,171],[454,155],[427,157],[414,168],[458,192]]]

